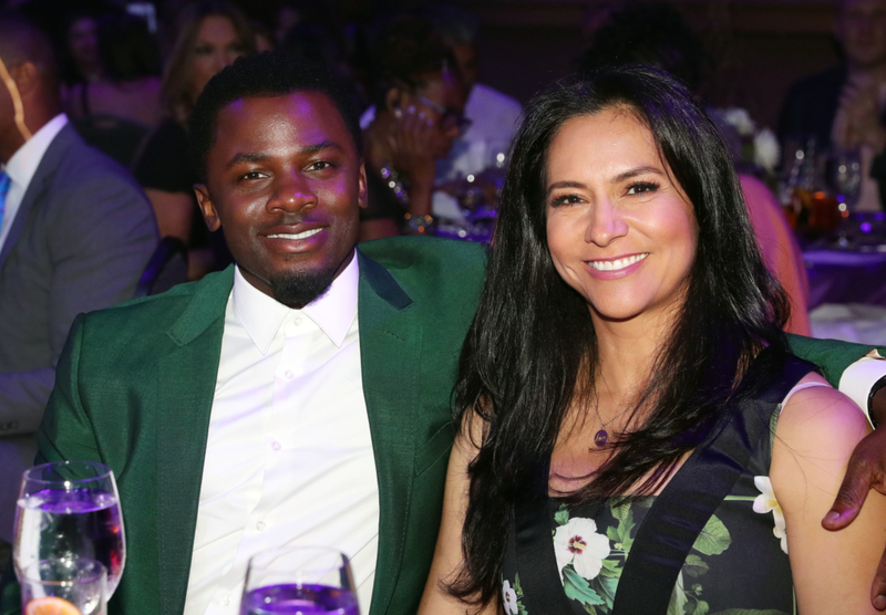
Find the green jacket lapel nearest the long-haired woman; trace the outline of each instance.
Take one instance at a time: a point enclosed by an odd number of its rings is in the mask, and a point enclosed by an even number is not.
[[[370,613],[384,613],[403,559],[412,503],[414,413],[420,405],[421,327],[412,299],[383,267],[358,251],[360,357],[379,477],[379,556]]]

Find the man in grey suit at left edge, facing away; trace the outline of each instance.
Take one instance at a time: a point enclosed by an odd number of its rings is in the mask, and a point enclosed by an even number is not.
[[[131,299],[158,234],[137,185],[61,113],[45,37],[0,17],[0,61],[1,544],[74,316]]]

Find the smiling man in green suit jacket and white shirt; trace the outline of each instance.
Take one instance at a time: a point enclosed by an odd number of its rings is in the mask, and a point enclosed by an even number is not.
[[[236,268],[72,327],[39,460],[117,476],[112,614],[236,613],[248,556],[295,543],[351,557],[363,613],[418,607],[485,258],[427,238],[354,250],[367,195],[348,101],[284,55],[214,77],[193,116],[197,194]],[[8,583],[0,613],[18,600]]]

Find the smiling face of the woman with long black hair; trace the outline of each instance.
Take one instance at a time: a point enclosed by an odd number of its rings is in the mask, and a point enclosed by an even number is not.
[[[698,229],[650,131],[621,108],[569,119],[550,144],[546,199],[554,265],[595,321],[669,322]]]

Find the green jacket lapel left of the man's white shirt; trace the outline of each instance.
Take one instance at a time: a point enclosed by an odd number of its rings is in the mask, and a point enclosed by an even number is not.
[[[162,615],[185,607],[206,437],[234,268],[206,278],[166,331],[157,365],[157,556]]]

